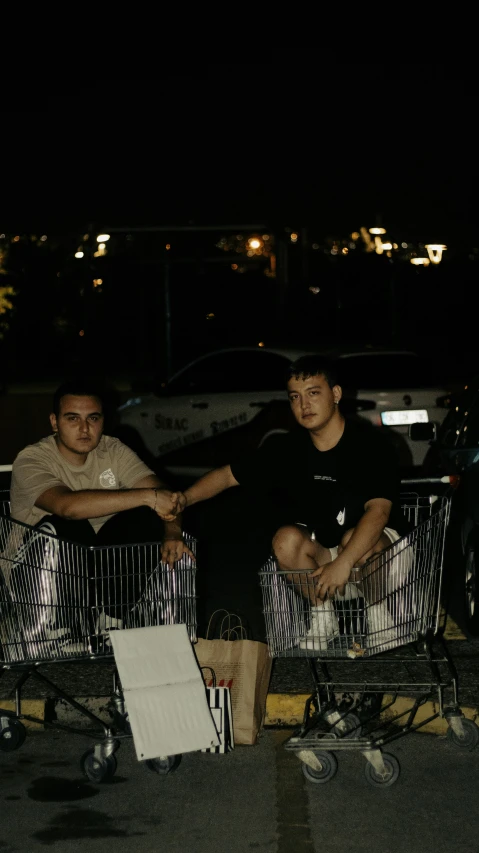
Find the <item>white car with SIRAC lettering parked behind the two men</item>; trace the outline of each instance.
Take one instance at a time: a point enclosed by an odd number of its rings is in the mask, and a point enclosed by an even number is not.
[[[135,449],[143,446],[150,458],[159,458],[173,473],[199,475],[231,458],[255,418],[258,424],[264,421],[267,433],[287,428],[285,372],[291,361],[305,354],[258,346],[200,356],[175,373],[159,393],[127,400],[118,410],[116,434],[132,446],[136,443]],[[402,446],[403,467],[421,465],[429,442],[412,442],[409,426],[441,423],[450,393],[433,384],[427,362],[408,351],[328,354],[339,359],[345,410],[394,431]],[[275,407],[282,413],[277,424],[264,416],[274,401],[284,404]],[[221,448],[226,458],[221,458]]]

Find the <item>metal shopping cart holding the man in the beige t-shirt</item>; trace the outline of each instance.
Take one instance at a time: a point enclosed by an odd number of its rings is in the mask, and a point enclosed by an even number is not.
[[[116,771],[121,740],[131,737],[116,668],[110,725],[55,684],[45,665],[112,663],[110,632],[124,628],[181,623],[195,642],[195,563],[184,555],[169,568],[161,561],[159,542],[87,547],[61,539],[10,518],[7,497],[0,496],[0,678],[15,674],[15,711],[0,707],[0,751],[22,745],[22,720],[87,734],[97,743],[82,756],[83,772],[91,781],[106,780]],[[196,540],[185,536],[184,541],[196,553]],[[77,729],[23,713],[22,692],[29,679],[88,718],[91,727]],[[165,775],[180,760],[167,755],[146,764]]]

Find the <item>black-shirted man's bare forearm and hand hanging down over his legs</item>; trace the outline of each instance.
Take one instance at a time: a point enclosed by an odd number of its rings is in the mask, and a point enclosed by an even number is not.
[[[336,559],[311,573],[312,577],[319,578],[319,598],[324,599],[341,589],[348,582],[354,566],[369,556],[388,523],[391,506],[391,501],[386,498],[372,498],[365,504],[364,515]]]

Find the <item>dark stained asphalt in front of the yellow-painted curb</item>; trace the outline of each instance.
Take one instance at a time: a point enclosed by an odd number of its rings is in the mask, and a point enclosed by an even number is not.
[[[412,734],[391,748],[400,776],[372,787],[358,750],[338,753],[329,782],[305,779],[268,729],[254,747],[183,755],[166,777],[138,762],[130,740],[110,782],[83,777],[81,735],[29,734],[0,754],[2,853],[477,853],[478,755]]]

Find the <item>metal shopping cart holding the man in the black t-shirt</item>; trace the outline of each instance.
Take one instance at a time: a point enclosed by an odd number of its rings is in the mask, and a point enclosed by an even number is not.
[[[411,531],[322,607],[311,596],[308,572],[279,571],[273,557],[260,572],[271,656],[307,658],[311,670],[314,691],[302,725],[285,743],[310,782],[332,779],[336,752],[352,749],[366,758],[370,784],[392,785],[399,762],[383,748],[439,716],[457,746],[472,749],[479,742],[479,728],[459,707],[443,636],[450,497],[403,494],[401,503]],[[395,713],[400,697],[408,697],[407,707]],[[419,709],[430,700],[436,704],[424,718]]]

